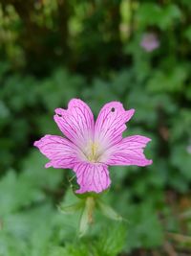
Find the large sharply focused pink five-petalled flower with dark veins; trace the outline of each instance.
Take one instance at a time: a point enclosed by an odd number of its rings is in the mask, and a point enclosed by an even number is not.
[[[134,112],[111,102],[102,107],[95,123],[90,107],[73,99],[68,109],[55,109],[54,121],[66,137],[45,135],[34,146],[50,159],[45,167],[74,170],[80,186],[76,193],[100,193],[111,184],[108,166],[152,164],[143,154],[151,139],[140,135],[122,138]]]

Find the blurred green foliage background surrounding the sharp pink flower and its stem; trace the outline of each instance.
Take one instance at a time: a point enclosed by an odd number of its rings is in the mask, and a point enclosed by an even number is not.
[[[191,255],[190,58],[190,0],[0,0],[0,256]],[[96,213],[81,240],[57,210],[72,172],[32,147],[74,97],[136,108],[125,135],[151,137],[154,162],[111,168],[128,223]]]

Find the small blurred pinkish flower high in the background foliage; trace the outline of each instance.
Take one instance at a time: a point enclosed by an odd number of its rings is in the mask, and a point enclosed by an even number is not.
[[[140,41],[140,46],[146,52],[153,52],[155,49],[159,48],[159,38],[154,33],[144,34]]]

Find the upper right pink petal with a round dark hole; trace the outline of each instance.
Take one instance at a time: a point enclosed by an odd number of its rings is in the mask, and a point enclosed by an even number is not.
[[[95,141],[100,144],[102,151],[122,139],[122,132],[126,129],[125,123],[131,119],[134,112],[135,109],[126,111],[118,102],[111,102],[102,107],[95,127]]]

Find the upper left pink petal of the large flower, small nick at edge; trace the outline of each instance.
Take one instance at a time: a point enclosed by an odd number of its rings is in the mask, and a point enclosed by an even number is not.
[[[94,115],[81,100],[71,100],[68,109],[56,108],[54,121],[64,135],[81,149],[93,139]]]

